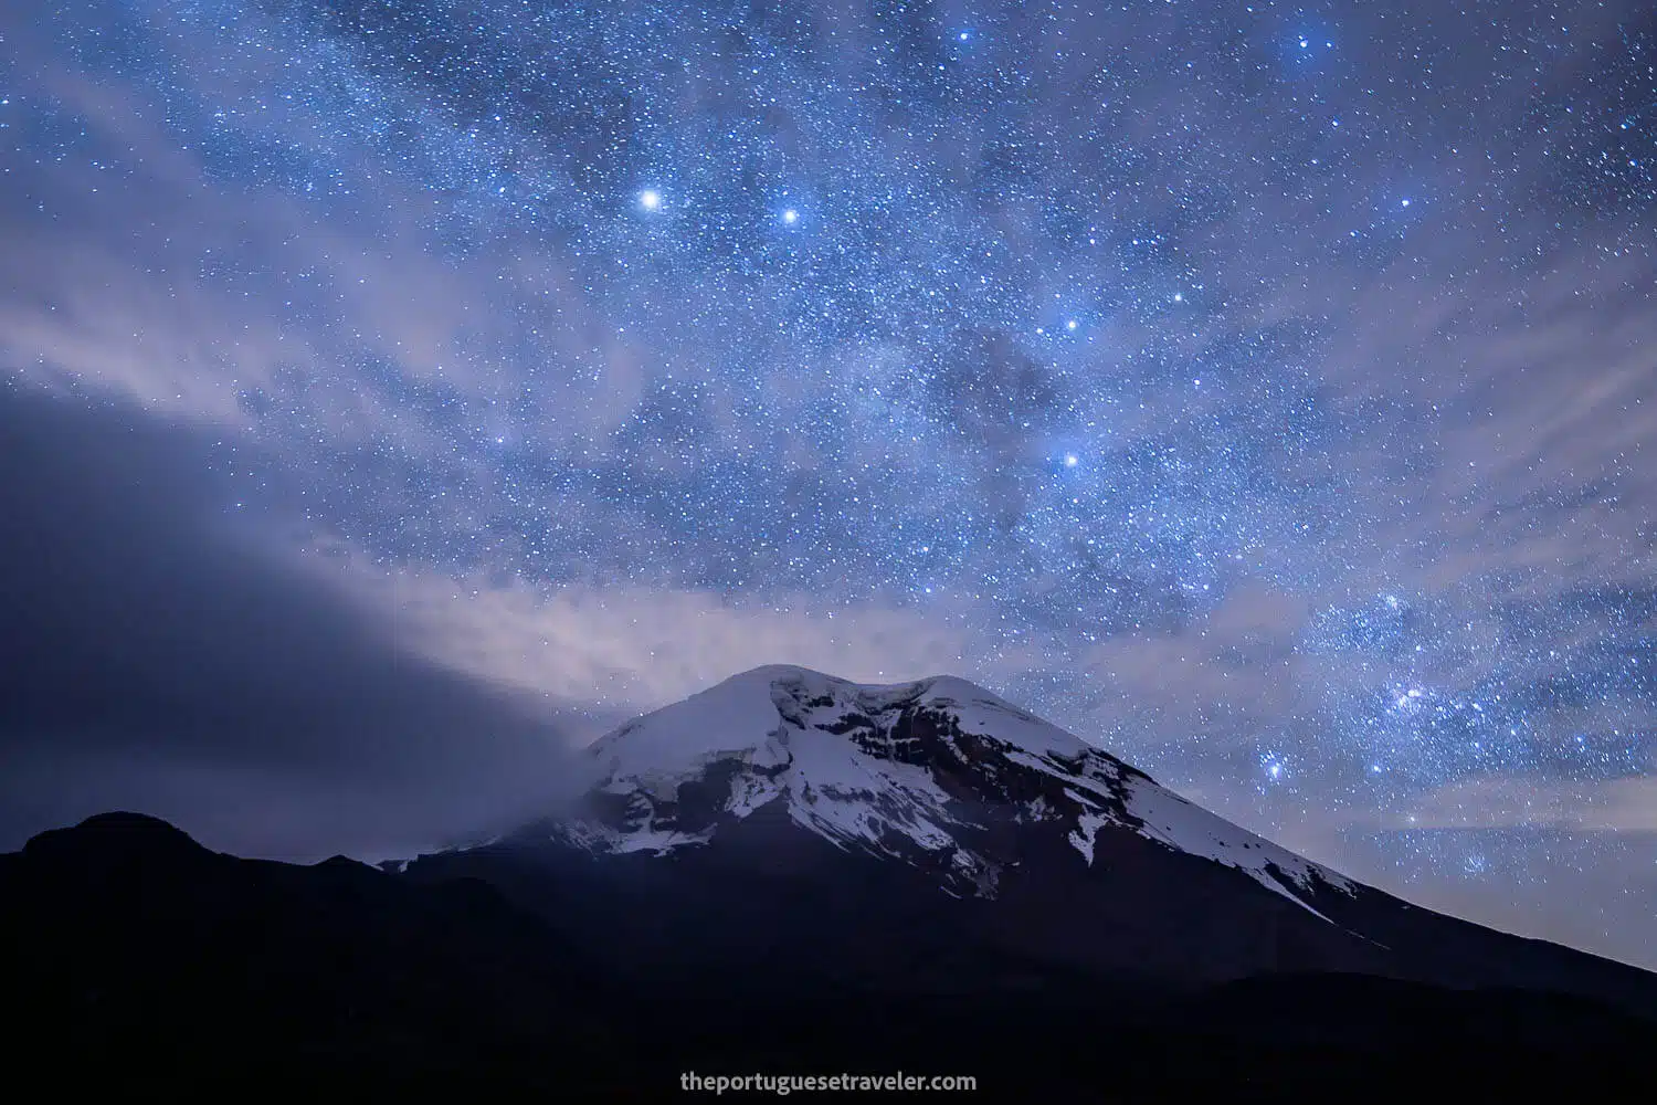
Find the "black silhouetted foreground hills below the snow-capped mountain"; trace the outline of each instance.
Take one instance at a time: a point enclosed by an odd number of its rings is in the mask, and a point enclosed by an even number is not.
[[[1085,972],[954,994],[620,972],[474,880],[239,860],[131,813],[0,856],[0,903],[7,1074],[53,1098],[668,1100],[684,1072],[903,1070],[993,1100],[1438,1100],[1616,1085],[1657,1044],[1591,999],[1357,974],[1153,996]],[[968,967],[1017,974],[994,954]]]

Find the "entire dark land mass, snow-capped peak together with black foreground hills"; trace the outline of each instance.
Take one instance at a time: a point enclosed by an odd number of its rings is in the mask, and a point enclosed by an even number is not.
[[[1347,880],[961,679],[759,668],[583,770],[583,803],[381,866],[40,833],[0,855],[20,1054],[167,1092],[901,1069],[1188,1100],[1412,1064],[1579,1088],[1657,1042],[1657,974]]]

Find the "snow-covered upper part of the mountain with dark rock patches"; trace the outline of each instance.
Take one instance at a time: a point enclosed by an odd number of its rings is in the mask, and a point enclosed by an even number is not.
[[[587,810],[558,832],[592,852],[671,853],[782,803],[840,848],[994,896],[989,822],[1056,823],[1089,866],[1132,832],[1236,868],[1316,913],[1341,875],[1239,828],[1057,726],[949,676],[862,686],[767,666],[621,726],[588,749]],[[1322,914],[1319,914],[1322,916]]]

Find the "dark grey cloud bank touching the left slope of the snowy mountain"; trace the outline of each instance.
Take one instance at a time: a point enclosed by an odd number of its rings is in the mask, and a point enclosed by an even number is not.
[[[0,480],[0,847],[124,805],[258,855],[384,853],[555,800],[595,721],[399,651],[235,524],[207,444],[0,389],[27,474]]]

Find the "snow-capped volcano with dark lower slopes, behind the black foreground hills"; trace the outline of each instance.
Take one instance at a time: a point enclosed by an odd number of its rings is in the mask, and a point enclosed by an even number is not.
[[[601,737],[577,774],[572,807],[404,875],[482,880],[646,989],[1120,1011],[1342,972],[1657,1011],[1640,972],[1344,878],[956,678],[757,668]]]

